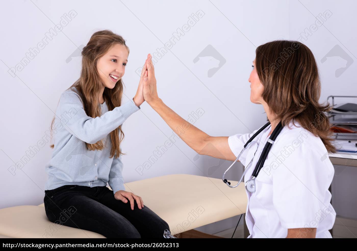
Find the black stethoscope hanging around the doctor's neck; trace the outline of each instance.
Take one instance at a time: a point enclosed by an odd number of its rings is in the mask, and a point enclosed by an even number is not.
[[[231,166],[223,173],[222,180],[223,180],[224,183],[227,184],[227,186],[234,188],[234,187],[237,187],[237,186],[241,183],[241,181],[242,181],[242,179],[243,179],[243,177],[244,177],[246,171],[248,170],[248,167],[252,164],[254,158],[249,162],[249,164],[247,165],[247,167],[244,169],[244,172],[243,172],[243,174],[242,174],[241,179],[239,180],[238,184],[236,184],[235,186],[231,186],[231,182],[228,182],[227,179],[224,178],[224,176],[225,176],[226,172],[228,172],[228,170],[234,165],[234,163],[237,162],[237,160],[239,159],[239,157],[241,157],[242,153],[244,152],[244,150],[246,149],[246,147],[252,142],[252,140],[253,140],[259,133],[261,133],[268,125],[270,125],[270,122],[268,122],[268,123],[266,123],[265,125],[263,125],[263,127],[260,128],[260,129],[247,141],[247,143],[244,145],[242,151],[238,154],[238,157],[236,158],[236,160],[235,160],[235,161],[231,164]],[[273,133],[272,133],[272,134],[270,135],[270,137],[268,138],[268,141],[267,141],[267,143],[266,143],[265,146],[264,146],[264,149],[263,149],[263,151],[262,151],[262,153],[261,153],[261,155],[260,155],[260,157],[259,157],[259,160],[258,160],[258,162],[257,162],[257,165],[255,166],[255,169],[254,169],[254,171],[253,171],[253,173],[252,173],[252,176],[251,176],[250,179],[245,183],[245,187],[246,187],[246,190],[247,190],[248,192],[250,192],[250,193],[255,193],[255,188],[256,188],[256,187],[255,187],[255,179],[257,178],[260,169],[261,169],[261,168],[263,167],[263,165],[264,165],[264,162],[265,162],[265,160],[266,160],[266,158],[267,158],[267,156],[268,156],[268,153],[269,153],[269,151],[270,151],[271,146],[273,145],[273,143],[274,143],[276,137],[278,137],[278,135],[279,135],[279,133],[281,132],[282,129],[283,129],[283,126],[282,126],[281,121],[280,121],[280,122],[278,123],[278,125],[276,126],[276,128],[274,129]]]

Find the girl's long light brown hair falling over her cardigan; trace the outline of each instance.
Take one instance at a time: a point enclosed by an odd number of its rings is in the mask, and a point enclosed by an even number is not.
[[[77,94],[81,97],[83,108],[89,117],[96,118],[102,115],[98,97],[103,84],[98,72],[100,69],[97,69],[96,65],[101,56],[107,53],[107,51],[110,50],[115,44],[125,45],[129,53],[129,47],[125,44],[125,40],[122,36],[113,33],[111,30],[100,30],[92,34],[89,42],[83,48],[81,53],[82,70],[80,78],[68,88],[77,88]],[[121,105],[123,85],[124,83],[122,82],[122,79],[120,79],[116,82],[113,89],[104,88],[103,98],[108,105],[109,111]],[[55,117],[52,119],[51,123],[51,136],[54,121]],[[121,125],[115,128],[114,131],[110,132],[110,139],[112,143],[110,158],[114,155],[119,158],[120,154],[125,154],[122,153],[120,149],[120,143],[124,139],[124,133],[121,129]],[[85,142],[85,144],[88,150],[102,150],[105,148],[103,140],[104,139],[101,139],[94,144],[87,142]],[[50,147],[54,148],[54,144],[51,144]]]

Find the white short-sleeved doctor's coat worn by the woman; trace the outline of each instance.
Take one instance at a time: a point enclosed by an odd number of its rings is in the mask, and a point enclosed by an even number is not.
[[[298,122],[285,126],[272,145],[263,168],[256,178],[256,192],[249,193],[246,208],[248,238],[285,238],[288,228],[317,228],[316,238],[332,238],[336,212],[328,191],[335,170],[326,155],[320,137],[300,127]],[[228,144],[238,157],[253,133],[228,137]],[[271,125],[248,146],[239,161],[246,167],[248,181],[267,142]],[[243,184],[240,184],[243,186]],[[306,232],[300,231],[298,237]]]

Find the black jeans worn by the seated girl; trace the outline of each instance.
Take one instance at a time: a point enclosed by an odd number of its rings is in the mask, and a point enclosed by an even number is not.
[[[107,238],[164,238],[166,221],[134,200],[124,203],[105,186],[65,185],[45,190],[45,211],[54,223],[100,233]]]

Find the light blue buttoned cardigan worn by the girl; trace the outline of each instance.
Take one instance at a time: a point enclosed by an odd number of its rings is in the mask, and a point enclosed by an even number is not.
[[[73,89],[74,88],[74,89]],[[140,109],[132,100],[108,111],[101,104],[102,115],[92,118],[84,111],[75,87],[61,94],[53,124],[54,151],[46,164],[48,179],[45,190],[64,185],[87,187],[109,186],[115,192],[125,190],[121,156],[109,158],[110,132],[119,127],[131,114]],[[94,144],[105,138],[105,149],[89,151],[85,142]]]

